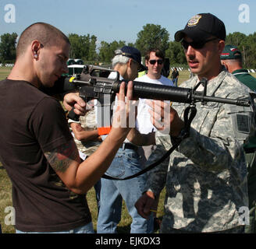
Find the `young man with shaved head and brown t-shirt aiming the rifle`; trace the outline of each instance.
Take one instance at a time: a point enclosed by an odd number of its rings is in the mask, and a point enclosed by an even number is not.
[[[108,169],[130,130],[119,128],[116,116],[108,138],[80,163],[62,107],[38,89],[53,86],[67,71],[69,48],[69,40],[60,30],[34,23],[20,35],[16,63],[0,82],[0,105],[4,107],[0,110],[4,117],[0,139],[5,141],[0,145],[0,161],[12,181],[19,233],[93,232],[83,194]],[[126,98],[132,99],[131,82]],[[67,103],[73,100],[66,97]],[[125,100],[124,83],[119,100]],[[119,105],[119,110],[126,111],[128,118],[125,105]]]

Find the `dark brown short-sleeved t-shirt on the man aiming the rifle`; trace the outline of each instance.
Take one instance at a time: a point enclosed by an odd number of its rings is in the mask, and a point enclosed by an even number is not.
[[[0,82],[0,161],[12,181],[16,229],[72,230],[91,222],[85,195],[63,184],[44,153],[73,139],[57,100],[25,81]]]

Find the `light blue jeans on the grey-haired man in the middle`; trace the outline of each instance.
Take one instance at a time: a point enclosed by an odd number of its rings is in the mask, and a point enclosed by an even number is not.
[[[141,170],[139,159],[133,149],[120,148],[106,174],[119,178],[136,174]],[[144,191],[145,181],[145,174],[125,181],[101,178],[101,209],[98,213],[97,233],[117,233],[116,226],[121,220],[123,199],[133,219],[130,233],[153,233],[153,216],[149,219],[142,218],[134,206]]]

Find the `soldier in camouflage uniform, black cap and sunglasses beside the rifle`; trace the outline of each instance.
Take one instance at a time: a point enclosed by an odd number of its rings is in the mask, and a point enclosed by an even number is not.
[[[193,88],[202,77],[207,77],[208,96],[251,100],[250,89],[220,64],[226,38],[221,20],[209,13],[196,15],[175,38],[182,40],[191,72],[196,74],[182,87]],[[153,103],[149,104],[154,110]],[[158,147],[148,163],[179,140],[187,106],[173,103],[170,132],[155,133]],[[242,214],[248,205],[243,144],[254,131],[253,108],[212,102],[197,103],[196,108],[189,137],[171,154],[169,163],[162,163],[148,174],[137,210],[147,218],[155,195],[166,187],[161,233],[243,233]],[[151,116],[153,123],[159,124],[158,115]]]

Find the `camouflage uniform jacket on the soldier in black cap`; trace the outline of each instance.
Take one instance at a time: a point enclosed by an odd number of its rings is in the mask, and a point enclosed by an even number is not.
[[[195,76],[182,87],[193,88],[197,82]],[[224,70],[207,86],[208,96],[250,100],[249,92]],[[181,118],[187,106],[173,103]],[[196,107],[190,136],[171,154],[169,163],[148,174],[145,190],[158,195],[166,187],[162,233],[169,233],[169,228],[215,232],[243,224],[240,216],[248,205],[243,144],[254,131],[253,108],[213,102]],[[172,146],[169,135],[156,132],[155,139],[157,149],[148,163]]]

